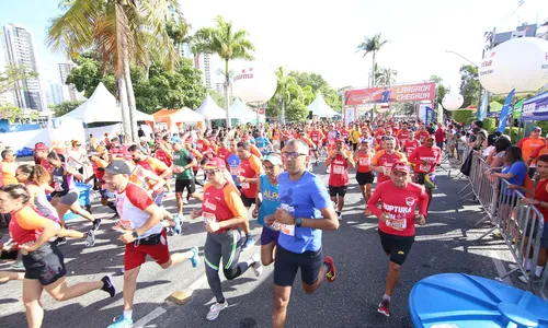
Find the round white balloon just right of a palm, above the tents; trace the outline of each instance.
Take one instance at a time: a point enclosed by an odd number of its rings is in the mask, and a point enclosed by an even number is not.
[[[233,78],[232,93],[244,103],[266,103],[276,92],[273,69],[256,62],[244,63]]]

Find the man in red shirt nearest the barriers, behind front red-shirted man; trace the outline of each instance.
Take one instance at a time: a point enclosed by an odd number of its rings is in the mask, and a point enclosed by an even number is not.
[[[442,163],[442,150],[434,145],[433,136],[427,137],[423,145],[415,148],[409,156],[409,162],[414,164],[415,183],[426,188],[427,211],[432,202],[432,189],[436,188],[436,166]]]

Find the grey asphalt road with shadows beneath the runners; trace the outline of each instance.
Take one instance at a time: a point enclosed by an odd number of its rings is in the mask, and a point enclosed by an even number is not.
[[[444,167],[447,167],[444,165]],[[328,176],[322,165],[315,173],[327,183]],[[454,171],[453,176],[456,175]],[[352,173],[352,177],[354,174]],[[413,248],[402,268],[400,283],[392,296],[390,318],[377,313],[377,305],[384,294],[388,259],[383,253],[377,234],[377,220],[364,218],[364,201],[355,180],[346,196],[343,221],[339,231],[324,232],[323,249],[334,258],[338,279],[333,283],[324,281],[312,295],[304,293],[300,282],[295,283],[286,327],[412,327],[408,312],[408,296],[411,288],[422,278],[443,273],[463,272],[493,279],[498,276],[493,258],[502,259],[507,268],[509,253],[500,241],[488,237],[476,241],[487,226],[469,231],[481,215],[481,208],[468,200],[460,200],[457,191],[466,185],[464,180],[448,178],[445,171],[438,171],[438,188],[434,191],[429,222],[418,227]],[[198,187],[199,188],[199,187]],[[174,199],[164,204],[174,211]],[[185,214],[199,204],[191,200]],[[98,218],[110,212],[93,206]],[[185,220],[184,234],[169,238],[171,251],[184,251],[194,245],[201,249],[205,243],[205,232],[201,222]],[[83,241],[69,241],[61,250],[66,257],[68,282],[99,280],[105,273],[118,272],[123,265],[124,248],[116,241],[117,233],[111,227],[114,222],[103,221],[98,233],[98,243],[85,248]],[[89,223],[80,220],[69,222],[71,229],[87,230]],[[259,236],[261,229],[252,221],[253,233]],[[7,231],[0,231],[5,234]],[[259,243],[258,243],[259,244]],[[246,260],[260,246],[241,255]],[[500,263],[500,262],[499,262]],[[9,269],[1,262],[0,270]],[[244,276],[224,281],[222,289],[229,302],[216,321],[205,319],[208,304],[214,298],[204,277],[204,263],[194,269],[189,262],[169,270],[162,270],[153,261],[142,266],[135,297],[135,327],[270,327],[273,305],[273,267],[265,268],[263,276],[255,278],[252,270]],[[299,277],[299,276],[297,276]],[[299,280],[299,279],[296,279]],[[123,278],[117,274],[116,283],[122,286]],[[520,286],[520,282],[512,278]],[[3,328],[25,327],[24,308],[21,302],[21,282],[11,281],[0,289],[0,326]],[[192,286],[192,301],[185,305],[168,305],[164,300],[173,292]],[[44,326],[49,327],[107,327],[112,318],[122,314],[122,293],[107,298],[102,291],[66,302],[56,302],[44,293],[46,309]]]

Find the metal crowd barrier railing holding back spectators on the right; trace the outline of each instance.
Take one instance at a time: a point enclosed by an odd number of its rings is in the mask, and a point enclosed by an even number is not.
[[[548,263],[545,265],[540,278],[537,278],[534,273],[540,253],[543,229],[545,227],[543,214],[536,207],[522,201],[525,198],[524,194],[513,189],[505,179],[493,176],[489,172],[491,166],[481,157],[479,152],[466,148],[465,156],[471,156],[469,159],[471,161],[469,162],[469,171],[463,169],[468,173],[469,183],[459,194],[470,188],[471,190],[461,199],[473,195],[473,198],[481,204],[486,213],[470,229],[484,222],[491,223],[492,227],[482,234],[479,239],[498,231],[516,263],[511,267],[510,271],[498,279],[502,280],[518,271],[523,276],[522,281],[526,282],[527,289],[548,300]],[[467,162],[466,157],[463,162]],[[466,176],[466,174],[463,174],[463,176]],[[530,276],[526,271],[527,259],[530,259],[532,263]]]

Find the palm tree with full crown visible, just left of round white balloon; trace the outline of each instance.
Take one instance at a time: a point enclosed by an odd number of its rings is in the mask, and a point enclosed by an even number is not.
[[[253,60],[250,51],[255,47],[248,39],[246,30],[233,31],[232,22],[225,22],[221,15],[215,19],[215,27],[199,28],[193,37],[192,50],[194,54],[216,54],[225,61],[225,105],[227,109],[226,127],[230,127],[230,99],[228,90],[230,86],[230,70],[228,63],[235,59]]]

